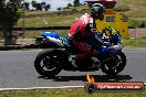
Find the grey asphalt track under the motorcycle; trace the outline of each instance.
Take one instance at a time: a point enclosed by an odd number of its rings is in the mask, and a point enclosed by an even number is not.
[[[0,51],[0,89],[83,86],[88,72],[62,71],[55,78],[40,76],[33,66],[36,51]],[[116,76],[92,72],[96,82],[146,82],[146,48],[125,48],[127,65]]]

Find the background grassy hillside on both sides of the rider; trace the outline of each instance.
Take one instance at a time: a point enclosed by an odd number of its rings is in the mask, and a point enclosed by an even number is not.
[[[125,11],[124,13],[128,15],[129,18],[129,25],[133,25],[132,20],[135,20],[137,22],[146,21],[146,0],[121,0],[116,3],[115,8],[122,7],[124,8],[129,8],[128,11]],[[128,3],[128,4],[127,4]],[[83,9],[88,10],[87,4],[76,7],[74,8],[77,11],[81,11]],[[62,11],[72,11],[72,9],[65,9]],[[60,11],[60,12],[62,12]],[[75,18],[80,18],[83,13],[77,12],[73,14],[64,14],[64,15],[59,15],[59,14],[53,14],[50,15],[50,11],[25,11],[25,15],[30,15],[29,18],[25,18],[25,26],[31,28],[31,26],[69,26],[74,22]],[[45,14],[45,15],[44,15]],[[34,17],[35,15],[35,17]],[[137,18],[137,19],[135,19]],[[140,21],[139,21],[140,20]],[[19,19],[18,24],[15,26],[22,26],[23,24],[23,19]],[[45,22],[48,23],[45,23]]]

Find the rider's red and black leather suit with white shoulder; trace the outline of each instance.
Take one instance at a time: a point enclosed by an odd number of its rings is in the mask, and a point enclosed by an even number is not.
[[[83,14],[70,29],[69,37],[74,47],[81,51],[76,57],[82,58],[87,55],[96,53],[96,48],[91,45],[92,41],[95,42],[95,34],[91,31],[90,24],[93,24],[91,14]],[[97,41],[98,42],[98,41]],[[98,42],[101,45],[102,43]]]

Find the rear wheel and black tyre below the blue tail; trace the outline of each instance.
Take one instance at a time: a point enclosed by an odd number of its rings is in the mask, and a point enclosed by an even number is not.
[[[61,54],[55,50],[39,53],[34,61],[36,72],[44,77],[54,77],[62,71],[60,56]]]

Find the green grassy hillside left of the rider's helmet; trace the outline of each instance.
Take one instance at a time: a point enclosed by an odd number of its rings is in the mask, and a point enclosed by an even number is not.
[[[76,7],[77,11],[82,9],[88,9],[87,4]],[[72,11],[72,9],[65,9],[60,12],[64,13],[65,11]],[[51,13],[51,14],[50,14]],[[45,15],[44,15],[45,14]],[[29,17],[28,17],[29,15]],[[70,26],[73,24],[75,18],[80,18],[82,13],[73,14],[56,14],[56,12],[50,11],[25,11],[25,26],[27,28],[41,28],[41,26]],[[23,18],[19,19],[15,26],[23,26]]]

